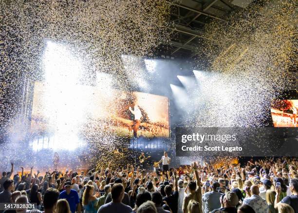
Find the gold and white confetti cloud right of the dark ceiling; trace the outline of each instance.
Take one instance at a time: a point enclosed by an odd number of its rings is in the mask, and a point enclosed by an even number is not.
[[[188,93],[195,107],[187,111],[186,126],[268,125],[271,101],[293,84],[289,69],[297,67],[295,4],[262,1],[231,15],[226,24],[206,26],[208,39],[197,59],[207,56],[208,65],[194,70],[198,87]]]

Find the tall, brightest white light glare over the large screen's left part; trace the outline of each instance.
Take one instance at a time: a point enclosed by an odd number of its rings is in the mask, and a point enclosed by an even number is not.
[[[51,41],[43,56],[45,93],[43,98],[47,126],[56,149],[73,150],[79,146],[78,127],[84,122],[84,91],[80,84],[83,67],[71,48]]]

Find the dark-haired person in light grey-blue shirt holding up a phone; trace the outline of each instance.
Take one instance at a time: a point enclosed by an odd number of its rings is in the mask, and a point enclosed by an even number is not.
[[[210,186],[209,181],[206,181],[206,186]],[[206,202],[205,213],[221,208],[220,197],[223,194],[219,192],[221,190],[220,186],[219,182],[213,182],[211,186],[212,191],[203,194],[202,200]]]

